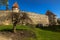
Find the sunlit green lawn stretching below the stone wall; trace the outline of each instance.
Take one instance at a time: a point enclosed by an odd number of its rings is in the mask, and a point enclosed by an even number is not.
[[[12,29],[12,25],[6,26],[0,26],[0,30],[4,29]],[[31,39],[31,40],[60,40],[60,32],[54,32],[50,30],[43,30],[40,28],[31,28],[29,26],[23,26],[23,25],[17,25],[17,29],[27,29],[35,32],[36,34],[36,39]]]

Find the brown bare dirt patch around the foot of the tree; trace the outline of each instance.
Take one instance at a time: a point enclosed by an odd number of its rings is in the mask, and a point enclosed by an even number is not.
[[[35,39],[36,35],[30,30],[17,30],[16,33],[10,31],[0,31],[0,39],[1,38],[5,38],[6,40],[29,40],[28,38]]]

